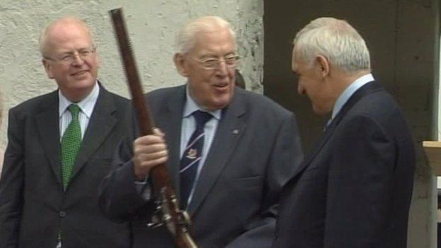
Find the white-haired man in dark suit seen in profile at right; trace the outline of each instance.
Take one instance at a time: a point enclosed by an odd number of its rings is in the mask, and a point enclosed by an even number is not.
[[[363,37],[317,18],[295,36],[292,65],[298,92],[331,120],[283,190],[273,247],[406,247],[415,150]]]

